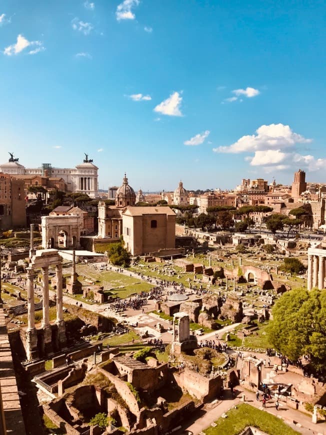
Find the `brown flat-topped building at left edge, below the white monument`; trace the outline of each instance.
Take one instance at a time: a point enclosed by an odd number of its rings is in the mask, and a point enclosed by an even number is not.
[[[0,228],[26,226],[24,182],[0,172]]]

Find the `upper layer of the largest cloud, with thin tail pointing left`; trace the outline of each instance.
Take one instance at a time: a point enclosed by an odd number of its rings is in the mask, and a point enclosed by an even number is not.
[[[213,148],[214,152],[248,152],[294,147],[295,143],[309,143],[301,134],[294,133],[289,125],[269,124],[256,129],[257,134],[245,135],[229,146]]]

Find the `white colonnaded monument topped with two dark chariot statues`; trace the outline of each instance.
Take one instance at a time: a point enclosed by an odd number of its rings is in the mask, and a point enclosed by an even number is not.
[[[0,171],[11,175],[42,175],[55,180],[61,178],[67,185],[67,191],[86,193],[94,198],[98,196],[97,170],[92,159],[88,159],[88,154],[82,163],[74,168],[52,167],[50,163],[42,163],[41,167],[29,168],[18,162],[18,158],[13,158],[13,154],[6,163],[0,164]],[[54,180],[53,180],[54,181]]]

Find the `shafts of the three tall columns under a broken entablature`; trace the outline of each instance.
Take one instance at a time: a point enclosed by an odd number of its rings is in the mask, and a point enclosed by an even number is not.
[[[49,296],[48,296],[48,266],[42,267],[42,327],[47,327],[50,324],[49,318]],[[28,325],[27,331],[35,328],[35,301],[34,301],[34,277],[35,272],[32,268],[27,268],[27,307],[28,307]],[[62,264],[55,266],[56,275],[56,320],[57,324],[61,324],[63,321],[62,310]]]

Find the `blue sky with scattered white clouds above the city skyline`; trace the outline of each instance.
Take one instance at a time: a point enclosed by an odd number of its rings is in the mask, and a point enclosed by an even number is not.
[[[326,3],[2,0],[0,158],[99,187],[326,182]]]

